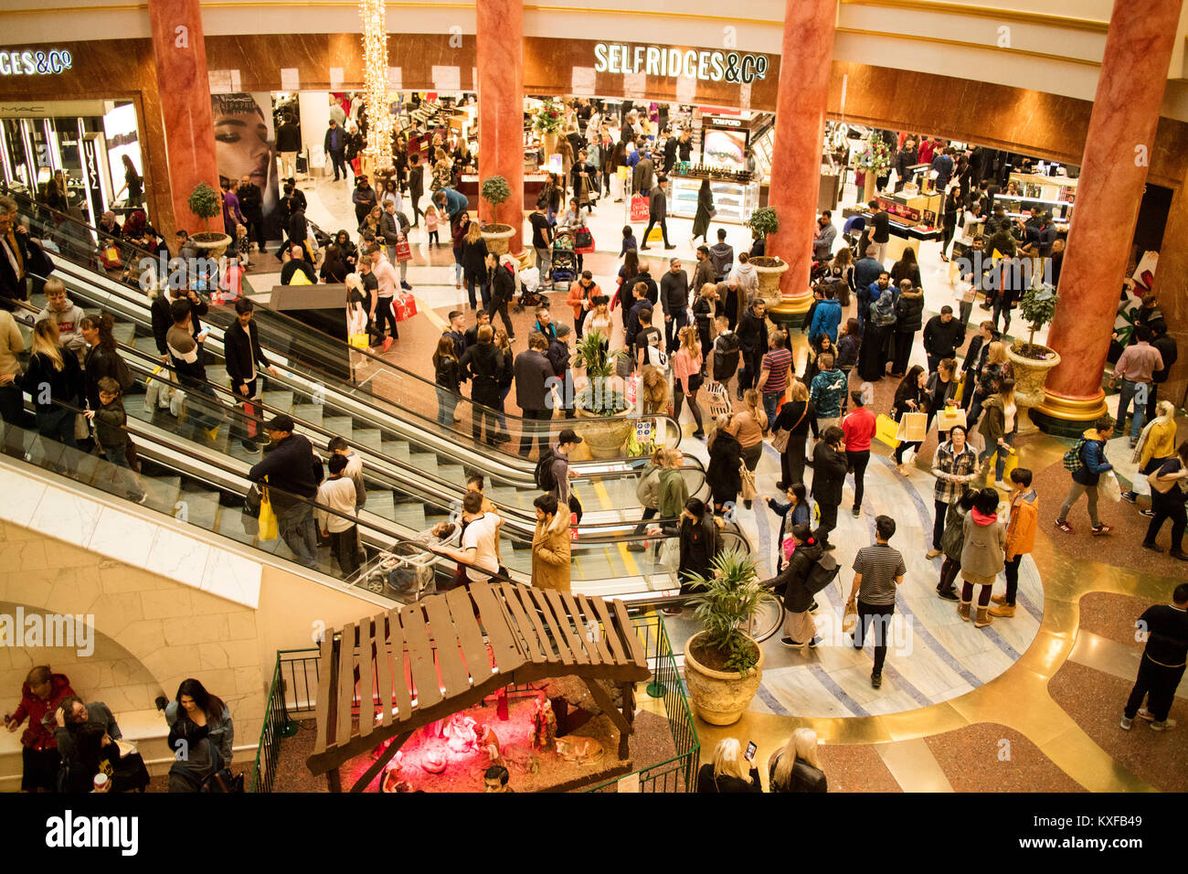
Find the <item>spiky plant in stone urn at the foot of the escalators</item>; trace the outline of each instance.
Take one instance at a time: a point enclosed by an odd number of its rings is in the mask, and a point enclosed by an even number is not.
[[[593,458],[623,458],[632,421],[625,417],[627,395],[623,379],[615,375],[615,361],[627,353],[608,352],[599,331],[586,332],[574,353],[574,367],[586,369],[581,383],[574,385],[574,408],[577,417],[586,420],[579,433]]]

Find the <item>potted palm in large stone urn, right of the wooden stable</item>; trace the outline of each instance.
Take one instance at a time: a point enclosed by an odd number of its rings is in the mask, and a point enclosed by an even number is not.
[[[684,645],[684,681],[697,716],[710,725],[731,725],[751,706],[763,679],[763,650],[742,628],[751,627],[763,595],[754,561],[740,549],[713,560],[713,574],[689,578],[702,590],[694,615],[701,624]]]

